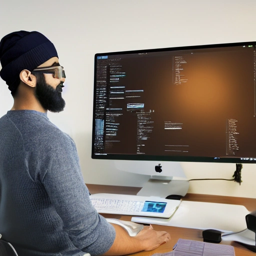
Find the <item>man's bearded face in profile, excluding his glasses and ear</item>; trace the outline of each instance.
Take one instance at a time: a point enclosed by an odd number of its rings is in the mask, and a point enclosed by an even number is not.
[[[58,58],[53,57],[39,67],[59,65]],[[42,107],[51,112],[60,112],[64,109],[65,101],[61,96],[65,78],[55,78],[52,74],[34,72],[36,77],[35,96]]]

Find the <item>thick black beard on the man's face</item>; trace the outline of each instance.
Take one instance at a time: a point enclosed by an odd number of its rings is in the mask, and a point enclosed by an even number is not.
[[[46,83],[43,73],[34,73],[36,76],[35,96],[42,107],[51,112],[60,112],[65,107],[65,100],[61,96],[63,82],[54,89]]]

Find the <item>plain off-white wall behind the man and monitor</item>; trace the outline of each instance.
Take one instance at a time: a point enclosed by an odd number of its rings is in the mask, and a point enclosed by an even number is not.
[[[3,0],[0,38],[37,30],[55,45],[67,75],[65,110],[48,113],[76,142],[86,183],[142,186],[145,177],[120,172],[110,160],[92,160],[93,57],[97,52],[256,40],[255,0]],[[0,79],[0,116],[12,97]],[[135,164],[135,163],[134,163]],[[188,178],[231,178],[235,164],[181,163]],[[242,180],[191,181],[189,192],[256,197],[256,165]]]

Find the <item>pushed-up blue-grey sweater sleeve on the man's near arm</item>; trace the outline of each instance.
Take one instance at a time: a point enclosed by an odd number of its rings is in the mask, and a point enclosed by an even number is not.
[[[42,183],[63,221],[72,243],[90,254],[102,254],[113,242],[112,226],[95,211],[89,200],[72,140],[57,136],[47,152]],[[45,164],[45,163],[44,163]]]

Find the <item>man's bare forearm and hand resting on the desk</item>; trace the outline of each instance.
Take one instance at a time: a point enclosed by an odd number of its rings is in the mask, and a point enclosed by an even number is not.
[[[136,235],[129,236],[121,226],[112,224],[115,228],[115,239],[110,249],[103,255],[126,255],[142,250],[152,250],[170,240],[170,234],[156,231],[153,227],[144,226]]]

